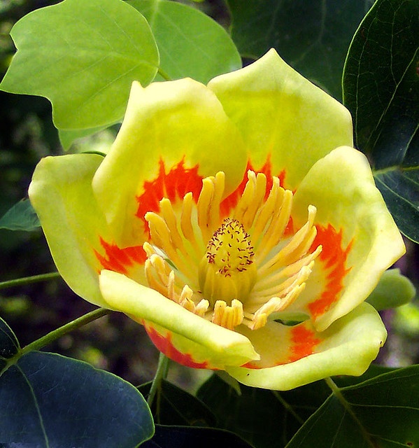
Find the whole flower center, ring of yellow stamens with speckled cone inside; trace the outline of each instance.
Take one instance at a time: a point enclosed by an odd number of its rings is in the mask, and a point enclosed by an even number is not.
[[[309,206],[306,224],[288,232],[292,192],[277,177],[267,192],[266,176],[249,171],[236,207],[222,220],[224,181],[219,172],[202,181],[197,203],[187,193],[181,207],[164,198],[159,213],[145,214],[145,275],[150,288],[213,323],[257,330],[304,290],[322,251],[312,248],[316,209]]]

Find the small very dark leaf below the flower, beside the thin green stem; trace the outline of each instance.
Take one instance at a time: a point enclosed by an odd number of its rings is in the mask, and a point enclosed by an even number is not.
[[[151,383],[140,386],[140,392],[146,396]],[[203,402],[168,381],[162,381],[162,389],[152,406],[155,421],[163,425],[214,426],[215,416]],[[158,414],[157,412],[157,401]]]

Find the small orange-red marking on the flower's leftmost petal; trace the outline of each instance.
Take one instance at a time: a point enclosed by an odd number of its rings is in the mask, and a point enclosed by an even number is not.
[[[100,237],[101,246],[104,248],[105,255],[101,255],[94,250],[94,255],[99,260],[103,269],[127,274],[128,267],[134,264],[143,265],[147,258],[142,246],[132,246],[120,248],[116,244],[110,244]]]

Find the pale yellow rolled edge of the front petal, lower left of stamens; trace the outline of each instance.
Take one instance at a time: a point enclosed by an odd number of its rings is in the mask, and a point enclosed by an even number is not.
[[[145,320],[157,324],[159,330],[169,330],[173,336],[171,342],[176,348],[179,351],[187,349],[194,359],[202,361],[204,353],[205,360],[211,366],[223,368],[225,365],[241,365],[259,358],[249,339],[243,335],[206,321],[156,290],[142,286],[122,274],[102,271],[100,287],[108,306],[136,321]]]

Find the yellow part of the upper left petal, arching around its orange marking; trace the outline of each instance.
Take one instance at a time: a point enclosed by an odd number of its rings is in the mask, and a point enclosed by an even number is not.
[[[133,83],[122,127],[93,188],[118,244],[139,244],[143,223],[134,220],[145,181],[183,161],[200,176],[226,174],[226,195],[243,178],[246,150],[217,97],[192,79]]]

